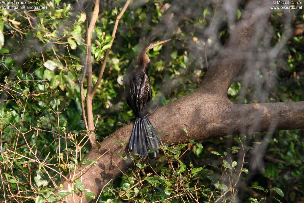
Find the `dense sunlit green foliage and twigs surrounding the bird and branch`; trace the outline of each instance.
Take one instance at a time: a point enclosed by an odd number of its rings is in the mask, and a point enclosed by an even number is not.
[[[0,14],[2,202],[63,201],[70,191],[57,192],[55,185],[67,173],[73,177],[75,165],[94,164],[83,159],[89,149],[79,88],[87,19],[81,8],[90,5],[64,0],[39,4],[47,9]],[[123,4],[102,2],[100,7],[92,33],[93,80]],[[144,45],[172,39],[149,52],[154,103],[166,105],[199,86],[244,5],[240,1],[229,10],[221,1],[134,1],[119,21],[94,98],[99,142],[133,117],[125,105],[123,77],[136,66]],[[260,66],[244,65],[228,91],[231,101],[304,100],[303,22],[303,10],[271,15],[265,33],[271,41],[261,40],[259,48],[280,49]],[[187,143],[165,144],[155,160],[140,163],[134,157],[132,168],[110,181],[98,201],[302,202],[303,134],[298,129],[233,135],[191,141],[189,148]],[[95,196],[80,180],[71,181],[76,183],[72,191],[87,199]]]

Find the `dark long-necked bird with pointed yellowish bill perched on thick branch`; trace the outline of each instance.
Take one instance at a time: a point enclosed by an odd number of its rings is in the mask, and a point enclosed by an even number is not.
[[[159,153],[158,141],[161,142],[155,135],[156,130],[147,117],[147,114],[150,113],[149,103],[152,99],[150,79],[147,75],[150,68],[150,59],[147,51],[167,41],[169,40],[149,43],[140,53],[138,67],[134,68],[126,81],[126,100],[136,116],[129,149],[133,150],[134,153],[140,154],[142,158],[144,155],[148,156],[149,154],[154,159]],[[148,150],[152,149],[154,149],[154,152],[147,153]]]

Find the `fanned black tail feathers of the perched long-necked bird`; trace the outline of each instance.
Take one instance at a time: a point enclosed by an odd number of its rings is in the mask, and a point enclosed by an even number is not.
[[[140,154],[142,158],[144,155],[149,155],[150,158],[154,159],[159,153],[158,142],[161,143],[161,140],[155,133],[156,130],[146,115],[144,117],[136,117],[129,142],[129,149],[133,150],[134,153]],[[152,149],[157,150],[148,153]]]

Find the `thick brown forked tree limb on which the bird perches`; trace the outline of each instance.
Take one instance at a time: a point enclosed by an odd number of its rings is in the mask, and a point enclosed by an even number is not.
[[[224,49],[195,92],[157,109],[149,116],[156,130],[166,133],[161,137],[163,141],[178,143],[189,138],[200,140],[256,131],[304,128],[304,101],[234,104],[227,98],[227,90],[244,63],[244,53],[253,51],[264,35],[264,27],[271,14],[270,5],[265,2],[251,1],[246,6]],[[183,131],[185,125],[190,137]],[[121,147],[113,139],[128,141],[132,129],[133,123],[125,125],[106,138],[99,150],[92,149],[86,155],[86,158],[96,159],[98,164],[84,170],[80,177],[84,188],[98,195],[105,185],[104,180],[114,179],[124,170],[128,164],[117,153],[127,152],[127,146]],[[81,169],[81,166],[78,168]],[[72,184],[66,180],[61,183],[64,189]],[[72,195],[67,197],[67,202],[72,200]],[[81,201],[81,198],[74,195],[74,201]],[[82,202],[85,201],[83,198]]]

